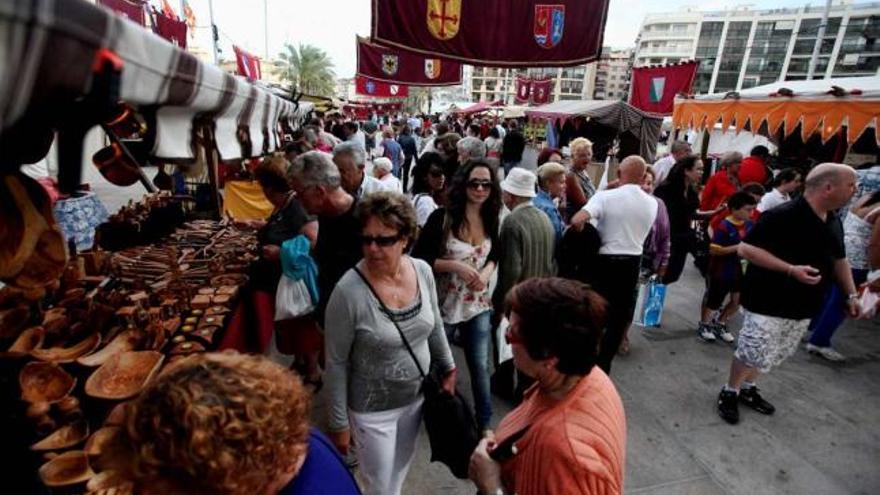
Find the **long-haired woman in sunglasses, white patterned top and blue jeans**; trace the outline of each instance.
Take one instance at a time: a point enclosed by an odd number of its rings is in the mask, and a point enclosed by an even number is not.
[[[474,392],[477,425],[490,427],[489,343],[492,298],[489,279],[499,258],[498,175],[486,162],[469,161],[452,179],[446,208],[431,214],[413,256],[437,274],[440,313],[449,338],[458,331]]]

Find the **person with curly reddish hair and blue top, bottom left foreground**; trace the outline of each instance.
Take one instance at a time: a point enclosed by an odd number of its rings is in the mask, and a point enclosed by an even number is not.
[[[360,493],[308,416],[309,395],[284,368],[260,356],[197,354],[128,403],[101,464],[145,495]]]

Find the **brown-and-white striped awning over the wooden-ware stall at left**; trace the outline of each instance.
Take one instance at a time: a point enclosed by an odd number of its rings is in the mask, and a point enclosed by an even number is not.
[[[70,118],[59,116],[59,109],[89,93],[101,49],[124,63],[120,99],[155,110],[154,159],[194,159],[197,119],[214,123],[223,160],[275,151],[283,147],[280,124],[298,127],[311,108],[202,63],[127,18],[83,0],[0,2],[0,38],[3,146],[16,144],[10,136],[42,132]],[[240,139],[246,137],[249,145],[242,146]]]

